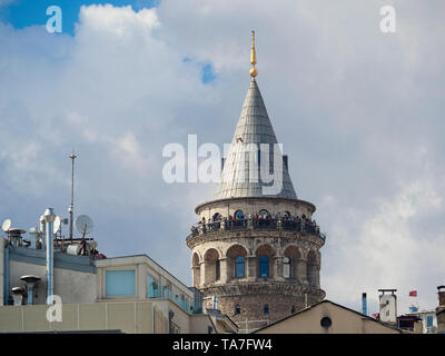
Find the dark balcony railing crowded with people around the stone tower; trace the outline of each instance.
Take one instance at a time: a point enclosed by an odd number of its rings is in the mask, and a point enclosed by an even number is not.
[[[216,231],[233,231],[233,230],[284,230],[284,231],[296,231],[305,233],[318,236],[326,239],[325,234],[322,234],[318,225],[312,220],[290,220],[290,219],[261,219],[261,218],[248,218],[248,219],[224,219],[219,221],[212,221],[208,224],[194,225],[190,230],[191,234],[187,237],[189,240],[192,237],[216,233]]]

